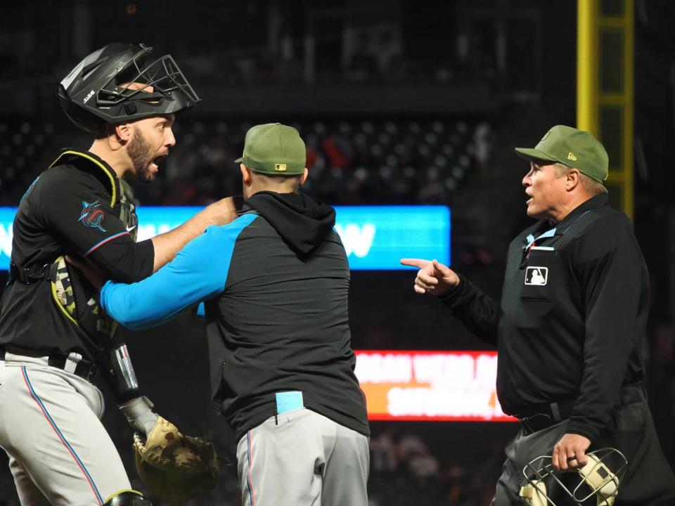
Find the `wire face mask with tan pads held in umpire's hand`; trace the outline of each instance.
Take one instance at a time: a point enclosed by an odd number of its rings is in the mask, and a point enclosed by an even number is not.
[[[595,450],[586,457],[588,462],[576,473],[555,471],[551,455],[530,460],[522,469],[527,484],[520,488],[520,497],[525,505],[614,505],[628,460],[615,448]]]

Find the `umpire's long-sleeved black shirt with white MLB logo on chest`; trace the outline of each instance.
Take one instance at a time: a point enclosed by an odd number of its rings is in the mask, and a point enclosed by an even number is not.
[[[465,278],[440,298],[470,330],[497,344],[497,394],[519,417],[574,402],[567,432],[593,440],[623,384],[641,375],[648,273],[629,219],[598,195],[557,225],[511,242],[501,305]]]

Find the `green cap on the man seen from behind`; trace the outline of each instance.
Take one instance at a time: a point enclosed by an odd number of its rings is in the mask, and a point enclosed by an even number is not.
[[[244,139],[244,154],[235,162],[261,174],[297,176],[304,173],[307,150],[293,126],[267,123],[251,126]]]

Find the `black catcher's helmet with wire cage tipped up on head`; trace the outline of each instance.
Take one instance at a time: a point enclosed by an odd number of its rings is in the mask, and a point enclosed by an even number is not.
[[[96,134],[106,123],[170,114],[198,103],[171,55],[152,60],[151,51],[145,44],[114,43],[86,56],[58,85],[65,114]]]

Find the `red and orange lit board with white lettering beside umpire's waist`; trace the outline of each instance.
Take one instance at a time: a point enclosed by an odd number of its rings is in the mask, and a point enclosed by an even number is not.
[[[356,351],[368,420],[511,422],[494,351]]]

